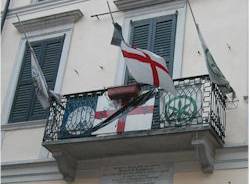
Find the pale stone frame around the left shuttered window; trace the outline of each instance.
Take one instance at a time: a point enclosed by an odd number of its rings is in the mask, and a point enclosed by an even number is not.
[[[61,58],[59,62],[59,67],[58,67],[58,72],[57,72],[57,77],[56,77],[56,82],[55,82],[55,87],[54,87],[54,91],[59,94],[61,93],[61,90],[62,90],[63,78],[64,78],[66,64],[68,60],[68,53],[70,49],[73,26],[74,26],[73,23],[69,23],[69,24],[62,25],[62,26],[29,32],[28,34],[28,38],[30,42],[41,41],[41,40],[56,38],[56,37],[65,35],[64,44],[62,48],[62,54],[61,54]],[[16,122],[16,123],[8,122],[10,113],[11,113],[11,107],[12,107],[13,100],[14,100],[15,93],[16,93],[16,87],[17,87],[19,75],[21,72],[21,66],[22,66],[25,48],[26,48],[26,40],[25,40],[24,35],[22,34],[21,40],[19,42],[18,53],[16,56],[15,67],[12,70],[12,79],[10,81],[8,93],[5,97],[6,108],[4,109],[5,112],[2,111],[2,125],[8,124],[8,125],[15,126],[15,124],[26,124],[26,123],[31,124],[31,122],[32,124],[33,123],[35,124],[36,122],[44,121],[44,119],[41,119],[41,120],[31,120],[31,121]]]

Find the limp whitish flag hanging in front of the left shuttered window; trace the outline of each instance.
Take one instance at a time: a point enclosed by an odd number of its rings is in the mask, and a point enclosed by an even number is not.
[[[30,48],[31,52],[31,75],[33,85],[35,86],[35,92],[37,98],[44,109],[49,108],[50,106],[50,98],[49,98],[49,90],[41,70],[41,67],[38,63],[35,52],[32,48]]]

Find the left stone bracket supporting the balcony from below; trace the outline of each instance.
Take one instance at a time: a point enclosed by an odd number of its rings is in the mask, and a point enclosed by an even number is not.
[[[63,175],[63,179],[67,182],[74,181],[77,161],[65,152],[54,152],[53,157],[56,159],[58,169]]]

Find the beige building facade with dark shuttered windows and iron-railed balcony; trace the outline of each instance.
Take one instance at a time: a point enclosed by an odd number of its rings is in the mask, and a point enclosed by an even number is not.
[[[125,40],[164,57],[179,96],[158,92],[151,114],[128,116],[125,132],[86,136],[107,88],[133,81],[110,44],[106,1],[12,0],[1,42],[2,183],[247,183],[248,2],[190,3],[238,101],[211,83],[185,0],[110,1]],[[46,111],[36,99],[24,32],[63,107]],[[181,103],[193,106],[177,116]],[[79,111],[88,121],[77,122]]]

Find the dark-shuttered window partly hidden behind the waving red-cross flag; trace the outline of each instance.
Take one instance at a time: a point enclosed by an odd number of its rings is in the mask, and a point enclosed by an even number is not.
[[[177,15],[172,14],[131,22],[131,45],[162,56],[171,76],[174,63],[176,21]],[[127,71],[127,83],[133,82],[134,79]]]

